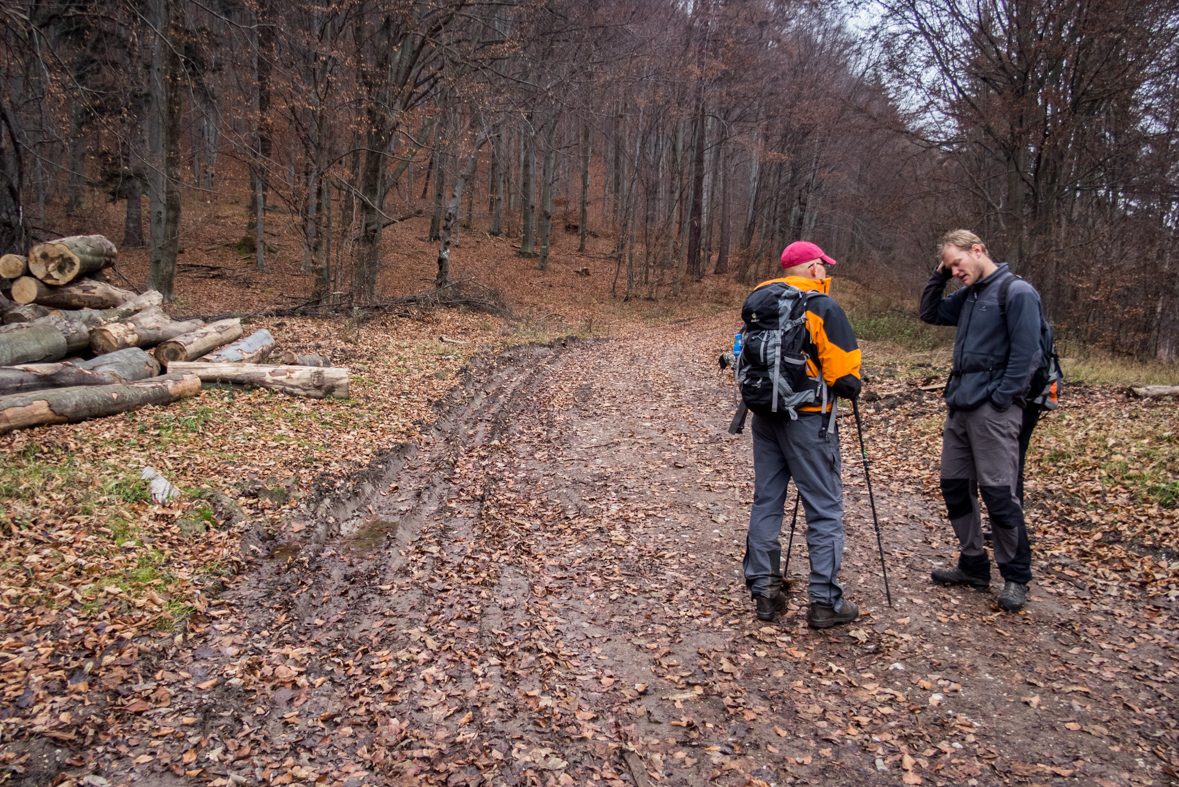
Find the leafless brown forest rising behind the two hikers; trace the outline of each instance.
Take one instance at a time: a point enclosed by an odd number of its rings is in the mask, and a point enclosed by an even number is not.
[[[541,267],[595,232],[626,298],[799,238],[911,298],[967,226],[1065,336],[1179,352],[1172,0],[0,0],[0,251],[125,201],[165,297],[195,194],[354,304],[423,199],[439,284],[456,232]]]

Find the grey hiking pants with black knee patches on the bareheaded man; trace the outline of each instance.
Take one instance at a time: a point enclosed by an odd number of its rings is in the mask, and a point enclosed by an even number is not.
[[[950,410],[942,430],[942,497],[961,554],[959,567],[989,578],[990,561],[982,545],[979,495],[987,504],[995,543],[995,562],[1005,580],[1032,581],[1032,547],[1019,498],[1020,430],[1023,410],[1006,412],[983,404]]]

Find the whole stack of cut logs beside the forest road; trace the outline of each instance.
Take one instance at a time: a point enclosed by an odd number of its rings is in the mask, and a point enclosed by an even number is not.
[[[348,397],[348,370],[323,356],[288,351],[283,365],[262,363],[275,346],[265,329],[243,338],[237,318],[173,320],[154,290],[92,278],[117,253],[95,234],[0,257],[0,435],[167,404],[203,383]]]

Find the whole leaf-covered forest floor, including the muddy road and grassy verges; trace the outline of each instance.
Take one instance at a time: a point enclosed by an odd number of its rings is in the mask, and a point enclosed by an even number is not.
[[[573,269],[549,280],[572,291]],[[627,317],[599,295],[522,298],[522,329],[259,316],[349,366],[353,398],[215,390],[0,438],[0,779],[1179,781],[1173,401],[1066,389],[1029,459],[1032,600],[1006,614],[997,581],[929,582],[956,553],[920,389],[937,355],[867,344],[893,606],[845,412],[842,576],[863,615],[806,628],[799,523],[790,606],[763,623],[739,574],[750,437],[726,431],[716,366],[736,312]],[[184,497],[152,503],[145,464]]]

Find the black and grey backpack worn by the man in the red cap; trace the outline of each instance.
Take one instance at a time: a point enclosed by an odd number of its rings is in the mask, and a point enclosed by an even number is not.
[[[745,320],[737,389],[745,406],[762,417],[797,418],[797,409],[819,401],[823,385],[806,375],[806,303],[815,291],[785,282],[753,290],[742,306]],[[817,363],[817,359],[815,359]],[[825,397],[824,397],[825,398]]]

